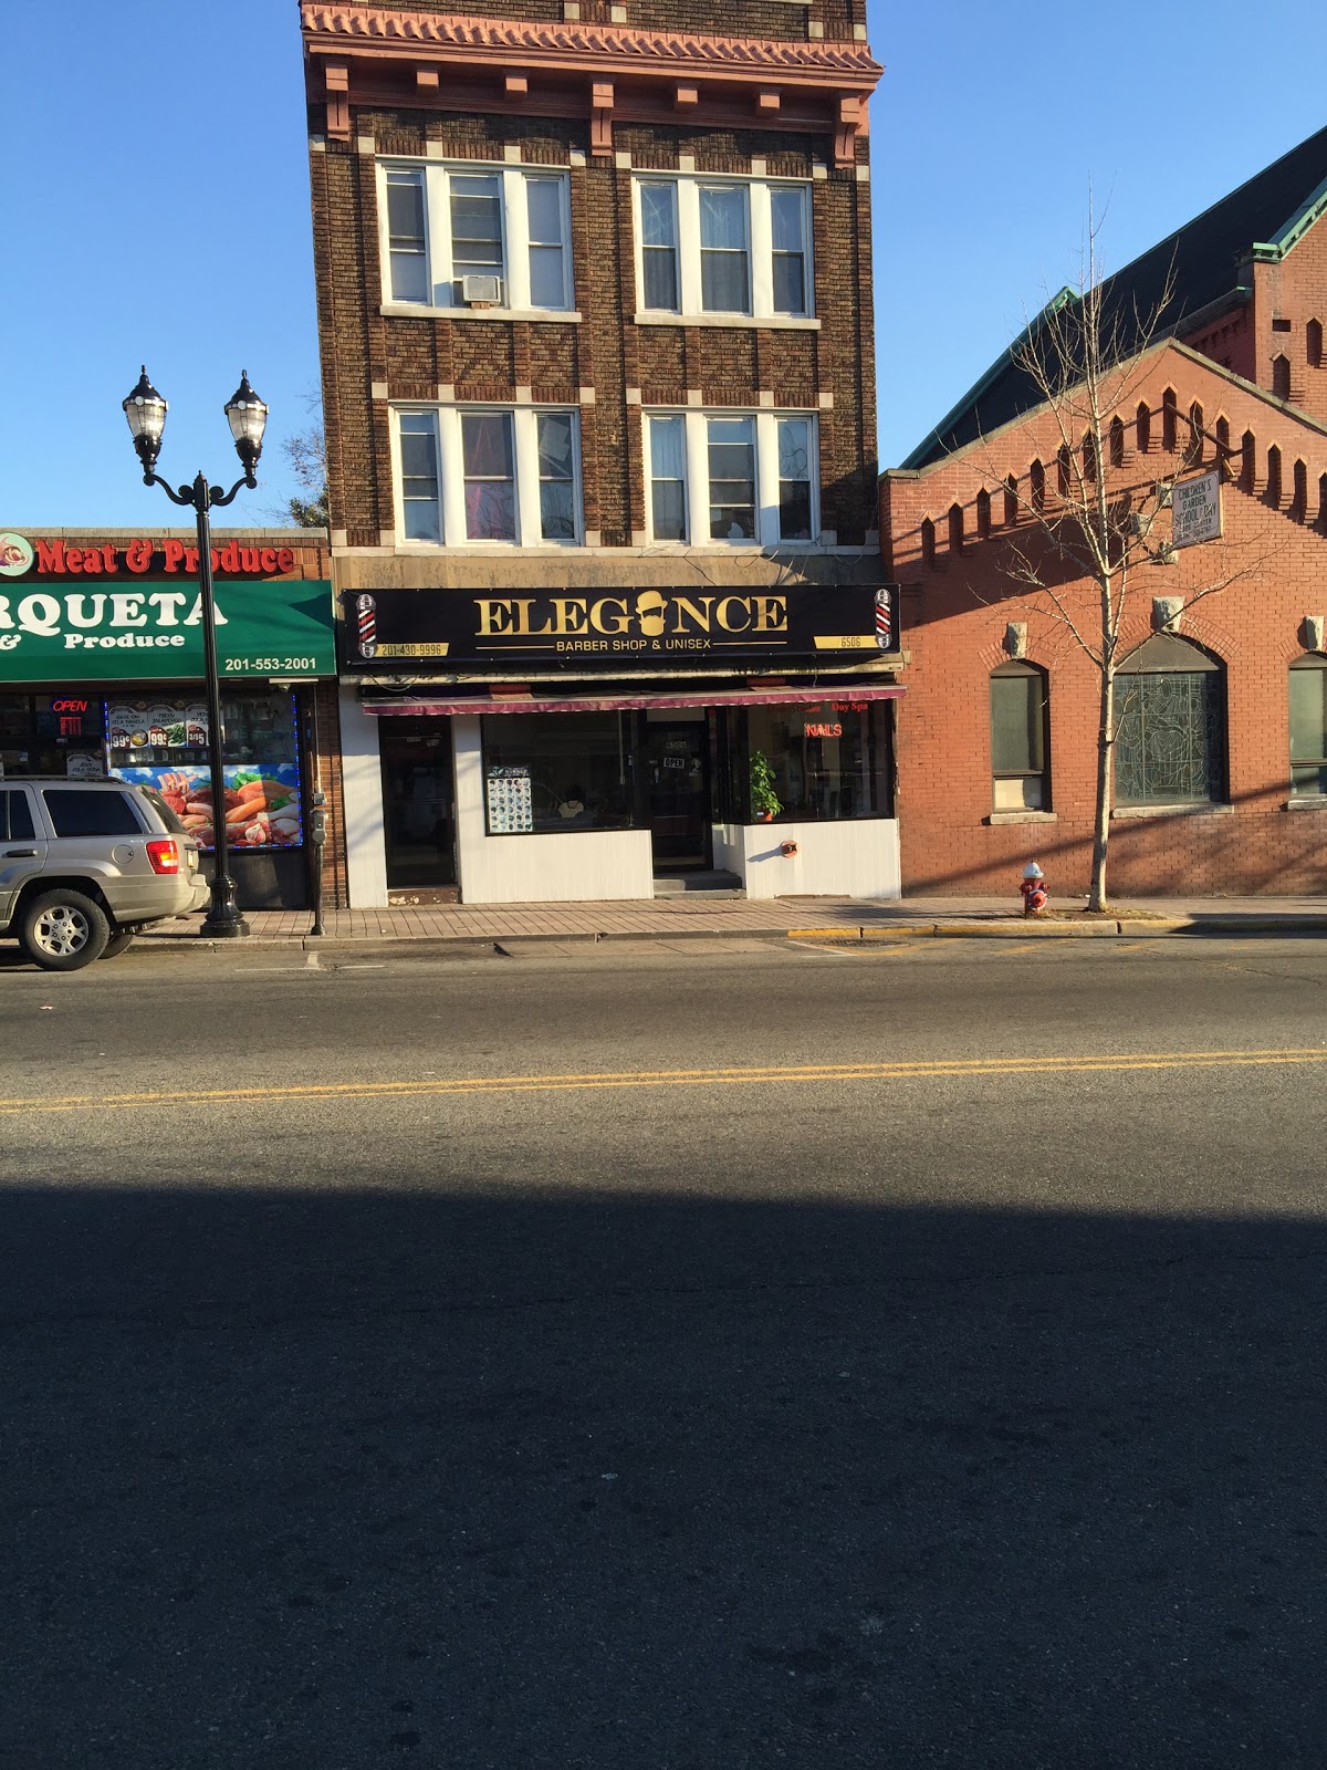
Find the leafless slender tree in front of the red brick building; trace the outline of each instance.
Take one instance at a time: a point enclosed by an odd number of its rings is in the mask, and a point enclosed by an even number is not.
[[[1026,591],[1026,607],[1047,616],[1090,658],[1099,681],[1097,791],[1092,839],[1088,908],[1106,908],[1106,862],[1111,832],[1111,750],[1116,738],[1116,673],[1129,639],[1129,618],[1138,602],[1139,572],[1173,565],[1175,550],[1155,531],[1171,506],[1175,481],[1205,458],[1205,450],[1228,476],[1230,450],[1207,437],[1194,414],[1157,412],[1173,427],[1175,453],[1166,471],[1139,478],[1147,455],[1134,453],[1134,471],[1124,469],[1125,423],[1136,423],[1136,402],[1152,370],[1152,350],[1168,335],[1166,313],[1175,296],[1173,267],[1147,313],[1124,312],[1109,301],[1109,285],[1097,276],[1097,223],[1088,218],[1088,244],[1078,290],[1063,290],[1010,350],[1010,361],[1032,382],[1039,405],[1051,414],[1055,458],[1026,483],[991,476],[1017,506],[1023,538],[1012,540],[1001,572]],[[1178,432],[1184,432],[1180,437]],[[1162,439],[1162,450],[1171,437]],[[1210,464],[1212,455],[1208,455]],[[1154,533],[1155,531],[1155,533]],[[1269,550],[1256,540],[1231,547],[1210,543],[1210,577],[1178,596],[1175,614],[1226,589],[1258,570]],[[1088,593],[1085,595],[1085,588]],[[1148,584],[1148,591],[1154,586]],[[1095,595],[1093,595],[1095,593]]]

